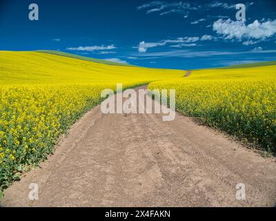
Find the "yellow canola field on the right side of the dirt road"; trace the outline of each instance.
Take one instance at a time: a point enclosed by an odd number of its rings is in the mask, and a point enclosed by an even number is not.
[[[194,70],[149,88],[175,88],[177,111],[276,152],[275,65]]]

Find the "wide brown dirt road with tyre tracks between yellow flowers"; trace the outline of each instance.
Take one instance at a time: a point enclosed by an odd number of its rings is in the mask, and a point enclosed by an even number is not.
[[[161,116],[103,115],[97,106],[1,206],[275,206],[275,158],[188,117]],[[29,200],[30,183],[39,200]],[[236,199],[239,183],[246,200]]]

